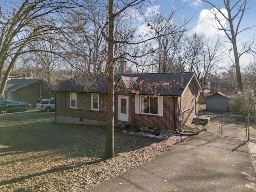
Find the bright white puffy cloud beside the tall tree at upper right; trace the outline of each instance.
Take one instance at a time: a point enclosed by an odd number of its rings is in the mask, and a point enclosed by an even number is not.
[[[197,20],[197,24],[194,27],[194,32],[204,32],[208,36],[214,36],[216,34],[218,35],[224,35],[224,32],[221,30],[218,30],[217,27],[220,26],[215,20],[215,15],[213,13],[217,13],[216,16],[220,19],[222,26],[227,26],[226,20],[223,18],[223,16],[217,12],[215,8],[212,9],[203,9],[200,12],[200,15]],[[221,9],[221,12],[223,12],[225,15],[227,15],[226,9]]]

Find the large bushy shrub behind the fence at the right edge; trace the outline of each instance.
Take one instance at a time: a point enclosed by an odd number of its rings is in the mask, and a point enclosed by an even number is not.
[[[244,88],[233,94],[230,101],[230,110],[235,115],[255,116],[256,110],[255,91],[251,88]]]

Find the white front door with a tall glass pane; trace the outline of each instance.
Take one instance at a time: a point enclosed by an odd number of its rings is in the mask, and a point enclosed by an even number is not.
[[[118,96],[118,120],[129,121],[129,96]]]

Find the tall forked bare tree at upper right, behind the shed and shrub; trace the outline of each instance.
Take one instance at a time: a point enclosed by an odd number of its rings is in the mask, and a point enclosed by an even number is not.
[[[234,52],[234,60],[235,60],[235,67],[236,67],[236,81],[238,84],[238,89],[242,90],[242,78],[241,78],[241,71],[240,71],[240,62],[239,58],[242,56],[242,54],[250,51],[250,46],[242,46],[241,50],[238,50],[238,34],[252,29],[252,27],[246,27],[242,28],[240,27],[240,24],[242,22],[242,19],[244,17],[244,14],[248,9],[250,9],[249,2],[250,0],[223,0],[226,10],[222,11],[220,6],[214,3],[212,3],[210,0],[202,0],[203,2],[206,2],[210,4],[214,9],[212,9],[212,14],[215,16],[215,21],[217,23],[218,30],[224,31],[226,37],[228,40],[232,43],[233,48],[231,49]],[[226,14],[227,12],[227,14]],[[221,16],[221,17],[220,17]],[[223,19],[226,20],[228,26],[226,26],[226,23],[224,24]],[[248,44],[248,43],[244,43]],[[252,43],[250,43],[252,44]]]

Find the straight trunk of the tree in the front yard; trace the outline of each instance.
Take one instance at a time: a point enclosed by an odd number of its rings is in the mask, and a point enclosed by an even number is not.
[[[108,0],[108,120],[106,126],[105,158],[113,158],[114,152],[114,2]]]

